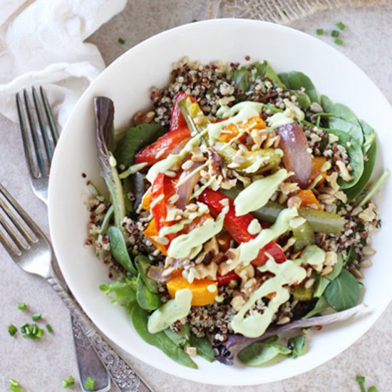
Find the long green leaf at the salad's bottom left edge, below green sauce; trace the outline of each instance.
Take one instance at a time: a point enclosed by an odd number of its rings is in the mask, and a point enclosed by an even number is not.
[[[186,354],[181,347],[178,347],[169,337],[167,337],[164,332],[150,334],[147,326],[147,311],[136,304],[133,306],[131,315],[133,326],[144,341],[162,350],[169,358],[180,363],[180,365],[187,366],[188,368],[197,368],[197,364],[192,361],[190,356]]]

